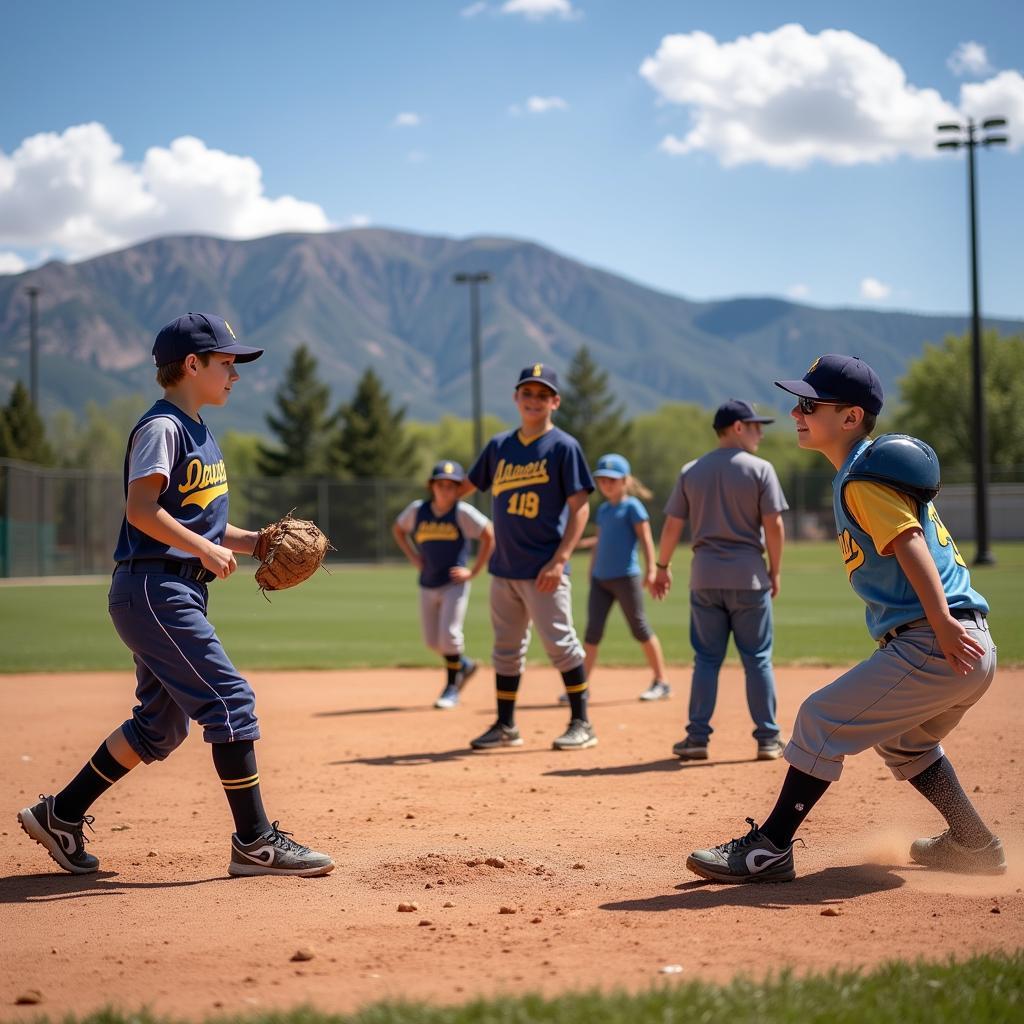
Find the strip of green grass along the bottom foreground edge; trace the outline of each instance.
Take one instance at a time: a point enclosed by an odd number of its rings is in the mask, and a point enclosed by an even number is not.
[[[1024,1014],[1024,952],[963,963],[884,964],[870,972],[831,971],[729,985],[692,981],[638,995],[569,993],[478,999],[459,1007],[376,1004],[355,1014],[302,1008],[288,1013],[208,1018],[234,1024],[1002,1024]],[[45,1018],[40,1018],[45,1020]],[[169,1024],[148,1014],[102,1011],[63,1024]]]

